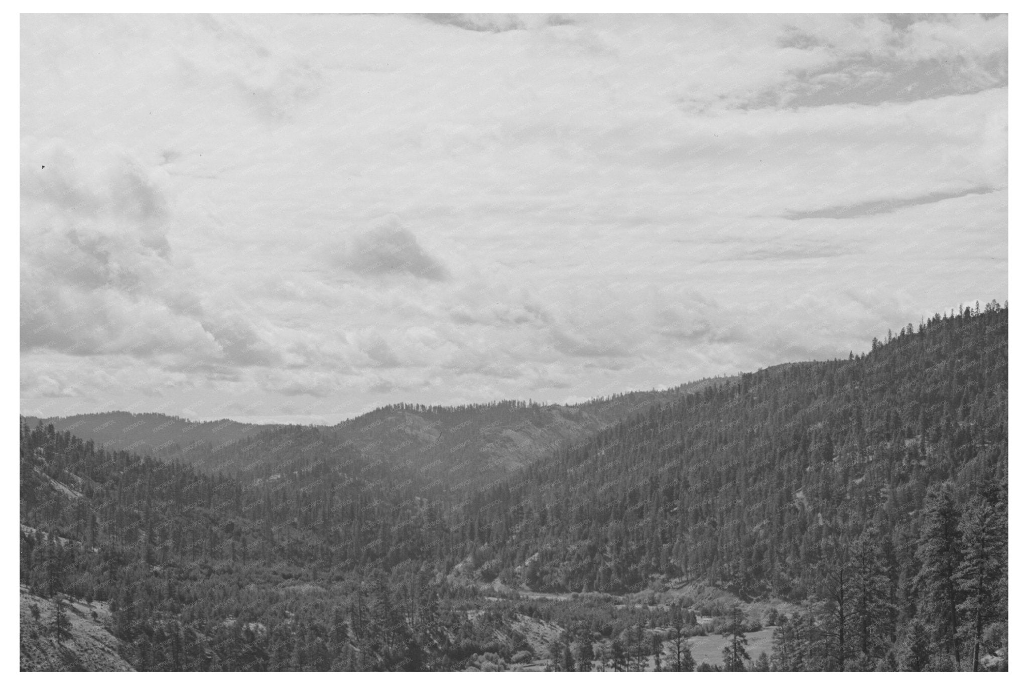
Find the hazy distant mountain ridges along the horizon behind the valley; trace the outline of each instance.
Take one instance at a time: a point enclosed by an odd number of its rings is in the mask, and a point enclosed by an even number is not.
[[[708,378],[667,390],[627,392],[573,406],[524,402],[393,405],[331,427],[290,426],[288,439],[278,431],[285,426],[229,419],[196,422],[164,414],[105,412],[42,422],[109,450],[176,459],[228,473],[256,463],[262,467],[273,466],[276,461],[291,463],[300,454],[324,454],[332,459],[346,446],[367,461],[390,464],[394,474],[409,471],[418,494],[446,497],[499,482],[632,414],[732,382],[732,378]],[[35,417],[26,420],[33,426],[40,422]],[[302,439],[297,437],[300,434]]]

